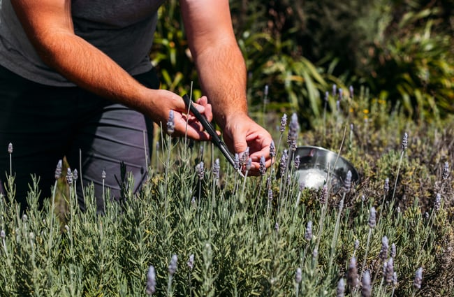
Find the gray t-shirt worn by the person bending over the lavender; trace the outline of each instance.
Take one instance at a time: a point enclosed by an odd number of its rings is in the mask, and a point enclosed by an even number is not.
[[[73,0],[75,34],[136,75],[152,68],[149,50],[164,0]],[[0,0],[0,65],[44,85],[73,86],[47,67],[31,45],[10,0]]]

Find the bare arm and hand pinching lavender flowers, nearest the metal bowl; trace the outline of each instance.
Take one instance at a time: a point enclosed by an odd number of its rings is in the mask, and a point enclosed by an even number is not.
[[[180,0],[189,48],[214,119],[231,150],[249,147],[253,167],[261,156],[270,166],[270,133],[247,114],[244,58],[237,45],[228,0]]]

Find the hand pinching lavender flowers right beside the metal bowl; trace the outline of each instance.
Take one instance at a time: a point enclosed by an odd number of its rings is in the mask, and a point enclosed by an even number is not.
[[[242,154],[249,147],[252,160],[248,175],[259,175],[260,159],[265,157],[265,167],[271,166],[270,133],[247,115],[230,117],[224,128],[224,141],[237,154]]]

